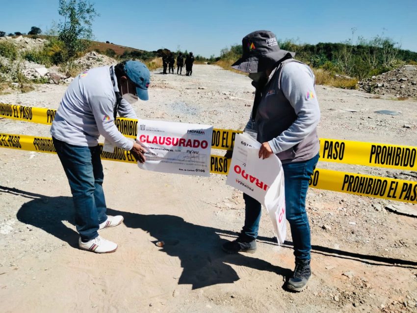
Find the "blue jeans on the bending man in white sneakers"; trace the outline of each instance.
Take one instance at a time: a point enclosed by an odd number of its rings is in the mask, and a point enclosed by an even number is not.
[[[70,183],[77,231],[84,241],[94,239],[99,235],[99,224],[107,220],[101,148],[74,146],[53,137],[52,140]]]

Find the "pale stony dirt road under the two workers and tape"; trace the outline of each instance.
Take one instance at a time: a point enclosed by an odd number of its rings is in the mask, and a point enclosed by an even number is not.
[[[249,78],[209,65],[193,70],[192,77],[154,73],[150,100],[135,104],[138,116],[242,129],[253,101]],[[43,85],[0,102],[56,108],[64,91]],[[415,100],[323,86],[317,95],[320,137],[417,145]],[[401,114],[374,113],[380,109]],[[49,136],[49,127],[0,119],[0,132]],[[294,266],[291,237],[277,246],[266,214],[256,254],[220,249],[244,218],[241,193],[223,176],[103,161],[108,213],[125,221],[101,233],[118,250],[98,255],[77,249],[57,156],[0,155],[1,312],[417,312],[416,219],[385,210],[388,201],[309,190],[313,276],[305,291],[290,293],[283,286]],[[319,166],[417,179],[413,172]]]

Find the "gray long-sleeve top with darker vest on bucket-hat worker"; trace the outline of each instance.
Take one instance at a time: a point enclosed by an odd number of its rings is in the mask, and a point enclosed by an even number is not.
[[[247,128],[258,131],[282,160],[304,160],[318,152],[316,127],[320,108],[309,66],[288,59],[269,76],[262,90],[256,123]],[[297,146],[298,145],[298,146]]]

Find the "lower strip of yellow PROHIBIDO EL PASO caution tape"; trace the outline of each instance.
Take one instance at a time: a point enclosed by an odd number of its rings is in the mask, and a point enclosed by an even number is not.
[[[103,145],[101,145],[103,149]],[[52,138],[0,133],[0,148],[55,153]],[[136,163],[129,151],[115,148],[114,153],[102,151],[104,160]],[[210,173],[227,175],[231,160],[211,156]],[[396,200],[417,204],[417,182],[382,178],[326,169],[316,169],[310,186],[356,195]]]

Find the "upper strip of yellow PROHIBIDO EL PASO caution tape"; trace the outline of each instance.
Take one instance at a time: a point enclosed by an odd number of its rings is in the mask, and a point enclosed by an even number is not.
[[[0,103],[0,117],[52,124],[56,110]],[[126,137],[136,138],[140,120],[117,118],[114,123]],[[231,150],[239,130],[213,129],[211,148]],[[417,147],[337,139],[320,139],[320,160],[365,166],[416,170]]]

